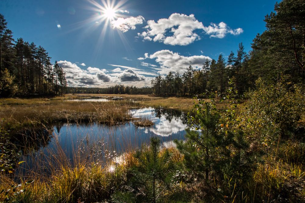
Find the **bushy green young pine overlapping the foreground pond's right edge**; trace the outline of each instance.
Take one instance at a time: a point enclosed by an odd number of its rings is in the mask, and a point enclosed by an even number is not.
[[[219,113],[213,103],[198,100],[192,108],[192,114],[188,114],[188,123],[191,128],[187,130],[186,142],[175,140],[177,149],[184,155],[185,165],[192,168],[197,175],[202,172],[206,181],[214,163],[213,155],[217,145],[216,128],[219,120]],[[212,156],[211,156],[212,155]]]

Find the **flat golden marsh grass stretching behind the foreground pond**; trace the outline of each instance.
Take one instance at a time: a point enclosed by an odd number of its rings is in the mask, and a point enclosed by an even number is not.
[[[108,102],[68,101],[92,96],[121,96],[123,100]],[[0,118],[3,126],[63,122],[101,122],[115,124],[129,121],[128,109],[136,107],[164,107],[189,111],[192,107],[189,98],[161,98],[148,95],[105,95],[105,94],[67,94],[55,98],[6,98],[0,99]]]

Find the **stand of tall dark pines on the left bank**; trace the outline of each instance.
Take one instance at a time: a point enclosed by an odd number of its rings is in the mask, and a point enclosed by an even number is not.
[[[54,96],[67,86],[66,74],[57,62],[52,65],[48,52],[34,42],[13,39],[0,14],[0,96]]]

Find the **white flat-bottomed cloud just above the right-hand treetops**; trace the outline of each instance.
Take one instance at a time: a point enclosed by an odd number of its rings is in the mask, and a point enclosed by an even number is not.
[[[160,69],[157,70],[159,70],[158,73],[161,75],[166,75],[170,71],[183,74],[189,65],[199,69],[207,59],[210,61],[212,60],[210,57],[203,55],[181,56],[178,53],[174,53],[170,50],[157,51],[151,54],[149,58],[155,59],[156,62],[160,64]]]

